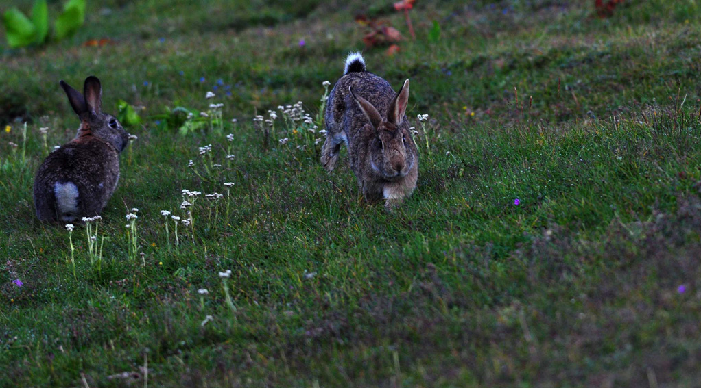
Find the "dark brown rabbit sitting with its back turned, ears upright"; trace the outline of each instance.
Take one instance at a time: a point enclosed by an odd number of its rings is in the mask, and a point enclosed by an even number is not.
[[[112,115],[102,113],[102,86],[86,78],[83,94],[61,80],[81,120],[76,138],[51,152],[34,178],[34,206],[41,221],[80,222],[100,214],[119,180],[119,152],[129,134]]]

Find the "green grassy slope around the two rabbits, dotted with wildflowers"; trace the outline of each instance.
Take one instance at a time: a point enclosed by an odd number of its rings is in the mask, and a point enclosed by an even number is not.
[[[252,119],[297,101],[315,115],[322,82],[363,48],[353,15],[408,36],[403,16],[381,2],[229,3],[93,1],[67,41],[0,46],[0,387],[697,385],[695,3],[626,2],[599,20],[593,1],[418,1],[416,41],[365,50],[395,87],[411,78],[418,189],[394,213],[362,200],[347,164],[327,174],[309,132],[278,118],[265,145]],[[83,45],[100,38],[113,43]],[[90,74],[104,110],[123,99],[144,125],[128,128],[139,138],[102,213],[102,265],[76,227],[74,276],[69,234],[36,220],[32,184],[39,128],[51,148],[78,126],[58,80]],[[212,102],[222,133],[163,127],[168,108]],[[208,144],[221,168],[205,168]],[[171,222],[169,245],[161,210],[185,217],[182,189],[226,194],[224,182],[230,196],[197,199],[195,227],[175,246]]]

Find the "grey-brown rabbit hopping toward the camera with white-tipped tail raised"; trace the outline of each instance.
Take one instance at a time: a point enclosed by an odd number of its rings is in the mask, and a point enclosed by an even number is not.
[[[332,171],[345,142],[365,199],[384,199],[388,209],[409,196],[418,179],[418,152],[404,117],[408,102],[409,80],[395,93],[386,80],[365,70],[365,59],[355,52],[329,93],[324,116],[321,163]]]

